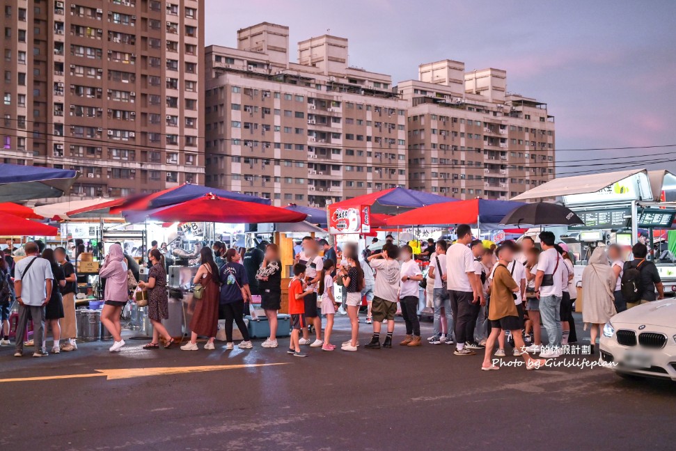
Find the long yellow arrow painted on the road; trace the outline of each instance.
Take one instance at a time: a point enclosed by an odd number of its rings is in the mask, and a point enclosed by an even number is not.
[[[94,370],[90,374],[63,374],[61,376],[17,377],[0,379],[3,382],[50,381],[54,379],[78,379],[82,377],[107,377],[107,381],[114,379],[131,379],[132,377],[166,376],[168,374],[184,374],[191,372],[206,372],[219,370],[237,370],[274,365],[288,365],[288,363],[251,363],[246,365],[206,365],[196,367],[156,367],[156,368],[118,368],[111,370]]]

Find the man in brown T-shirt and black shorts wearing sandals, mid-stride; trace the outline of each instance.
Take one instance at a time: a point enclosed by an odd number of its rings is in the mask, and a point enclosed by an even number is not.
[[[491,354],[495,347],[498,335],[505,331],[512,331],[514,346],[520,349],[521,357],[524,358],[527,370],[537,370],[544,367],[547,362],[544,359],[531,358],[526,352],[524,338],[521,336],[521,328],[524,326],[523,318],[519,317],[517,306],[514,305],[514,293],[519,291],[519,285],[514,282],[507,265],[514,260],[512,244],[503,244],[496,250],[498,267],[493,275],[491,286],[491,302],[488,310],[488,319],[491,322],[491,334],[486,341],[484,361],[481,369],[484,371],[498,370],[500,367],[491,363]]]

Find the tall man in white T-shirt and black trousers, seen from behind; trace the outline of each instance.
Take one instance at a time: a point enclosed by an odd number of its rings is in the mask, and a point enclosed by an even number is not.
[[[475,351],[465,348],[465,342],[473,340],[469,335],[480,306],[486,299],[481,289],[481,281],[474,274],[474,255],[468,247],[472,242],[472,229],[461,224],[456,229],[457,241],[446,252],[446,285],[450,297],[450,307],[455,319],[456,356],[473,356]]]

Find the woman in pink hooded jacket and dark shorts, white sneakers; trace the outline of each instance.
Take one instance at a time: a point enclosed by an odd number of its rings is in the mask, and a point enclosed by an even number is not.
[[[99,271],[99,276],[106,279],[104,292],[103,310],[101,312],[101,324],[113,335],[111,352],[118,352],[125,345],[122,339],[122,325],[120,324],[120,312],[129,301],[127,290],[127,263],[122,252],[122,246],[113,244],[110,246],[106,261]]]

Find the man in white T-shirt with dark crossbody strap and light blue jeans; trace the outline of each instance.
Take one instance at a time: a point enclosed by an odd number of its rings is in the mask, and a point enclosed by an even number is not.
[[[446,275],[446,248],[448,244],[443,239],[437,242],[436,252],[430,258],[430,267],[427,276],[434,278],[434,336],[430,340],[432,345],[441,343],[453,343],[453,310],[450,308],[450,296],[446,288],[446,281],[443,276]],[[437,268],[438,267],[438,268]],[[441,310],[443,310],[444,319],[441,319]],[[443,333],[443,325],[446,322],[446,331],[449,335]]]

